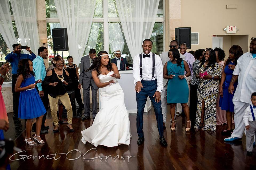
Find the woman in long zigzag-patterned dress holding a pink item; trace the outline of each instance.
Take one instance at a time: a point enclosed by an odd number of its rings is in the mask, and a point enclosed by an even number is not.
[[[206,48],[196,77],[200,79],[198,86],[197,115],[195,128],[216,130],[216,102],[219,90],[218,80],[221,77],[221,68],[216,62],[215,51]]]

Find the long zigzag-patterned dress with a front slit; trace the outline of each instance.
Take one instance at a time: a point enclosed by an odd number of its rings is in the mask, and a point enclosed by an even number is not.
[[[221,67],[215,63],[214,67],[204,68],[204,65],[199,67],[197,74],[207,71],[211,76],[221,77]],[[201,122],[202,101],[205,101],[205,127],[203,130],[216,130],[216,103],[219,92],[219,81],[212,79],[200,79],[200,84],[197,89],[198,103],[197,115],[194,128],[199,128]]]

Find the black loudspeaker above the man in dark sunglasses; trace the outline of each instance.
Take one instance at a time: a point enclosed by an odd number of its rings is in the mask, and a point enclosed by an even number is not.
[[[175,28],[175,40],[180,44],[186,44],[187,48],[191,48],[191,27]]]

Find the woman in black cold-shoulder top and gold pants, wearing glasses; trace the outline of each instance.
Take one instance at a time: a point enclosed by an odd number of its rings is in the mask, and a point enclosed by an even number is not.
[[[70,88],[72,80],[69,77],[69,73],[63,69],[64,60],[60,57],[55,57],[51,61],[54,69],[51,69],[47,72],[45,79],[42,82],[42,86],[48,89],[48,98],[51,107],[51,115],[53,117],[54,130],[53,133],[59,132],[59,122],[58,122],[58,100],[65,106],[67,109],[67,120],[68,128],[70,132],[74,132],[72,127],[72,117],[73,111],[69,95],[67,94],[67,89]]]

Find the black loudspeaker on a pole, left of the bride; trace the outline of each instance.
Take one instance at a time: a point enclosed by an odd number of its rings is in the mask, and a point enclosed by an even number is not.
[[[67,28],[53,28],[51,33],[53,36],[53,51],[68,51]]]

